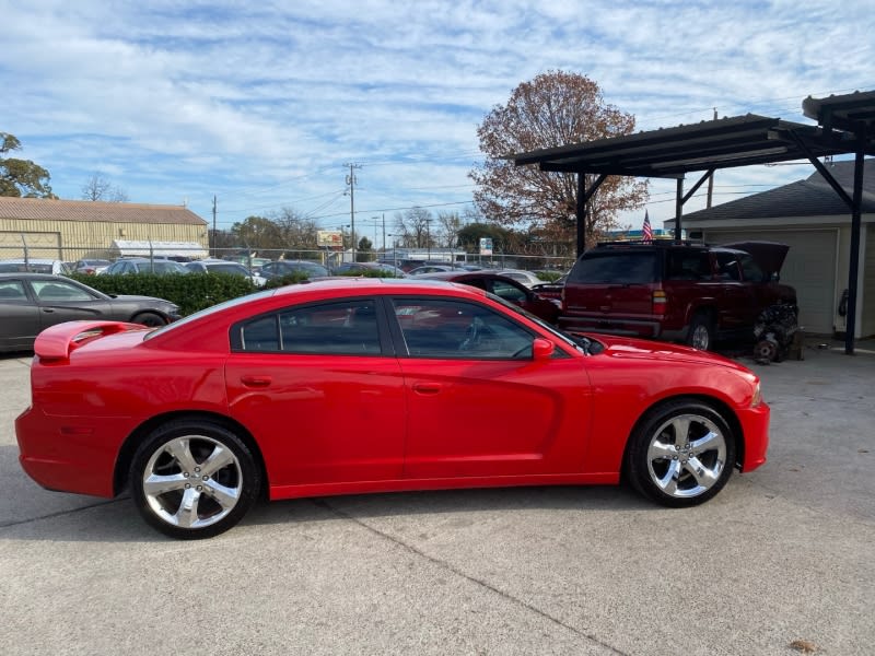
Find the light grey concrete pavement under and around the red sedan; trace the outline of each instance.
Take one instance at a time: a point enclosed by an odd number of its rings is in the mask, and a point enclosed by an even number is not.
[[[769,462],[708,504],[622,488],[259,506],[177,542],[129,500],[16,462],[28,358],[0,356],[0,645],[9,654],[847,656],[875,649],[875,353],[745,364]]]

